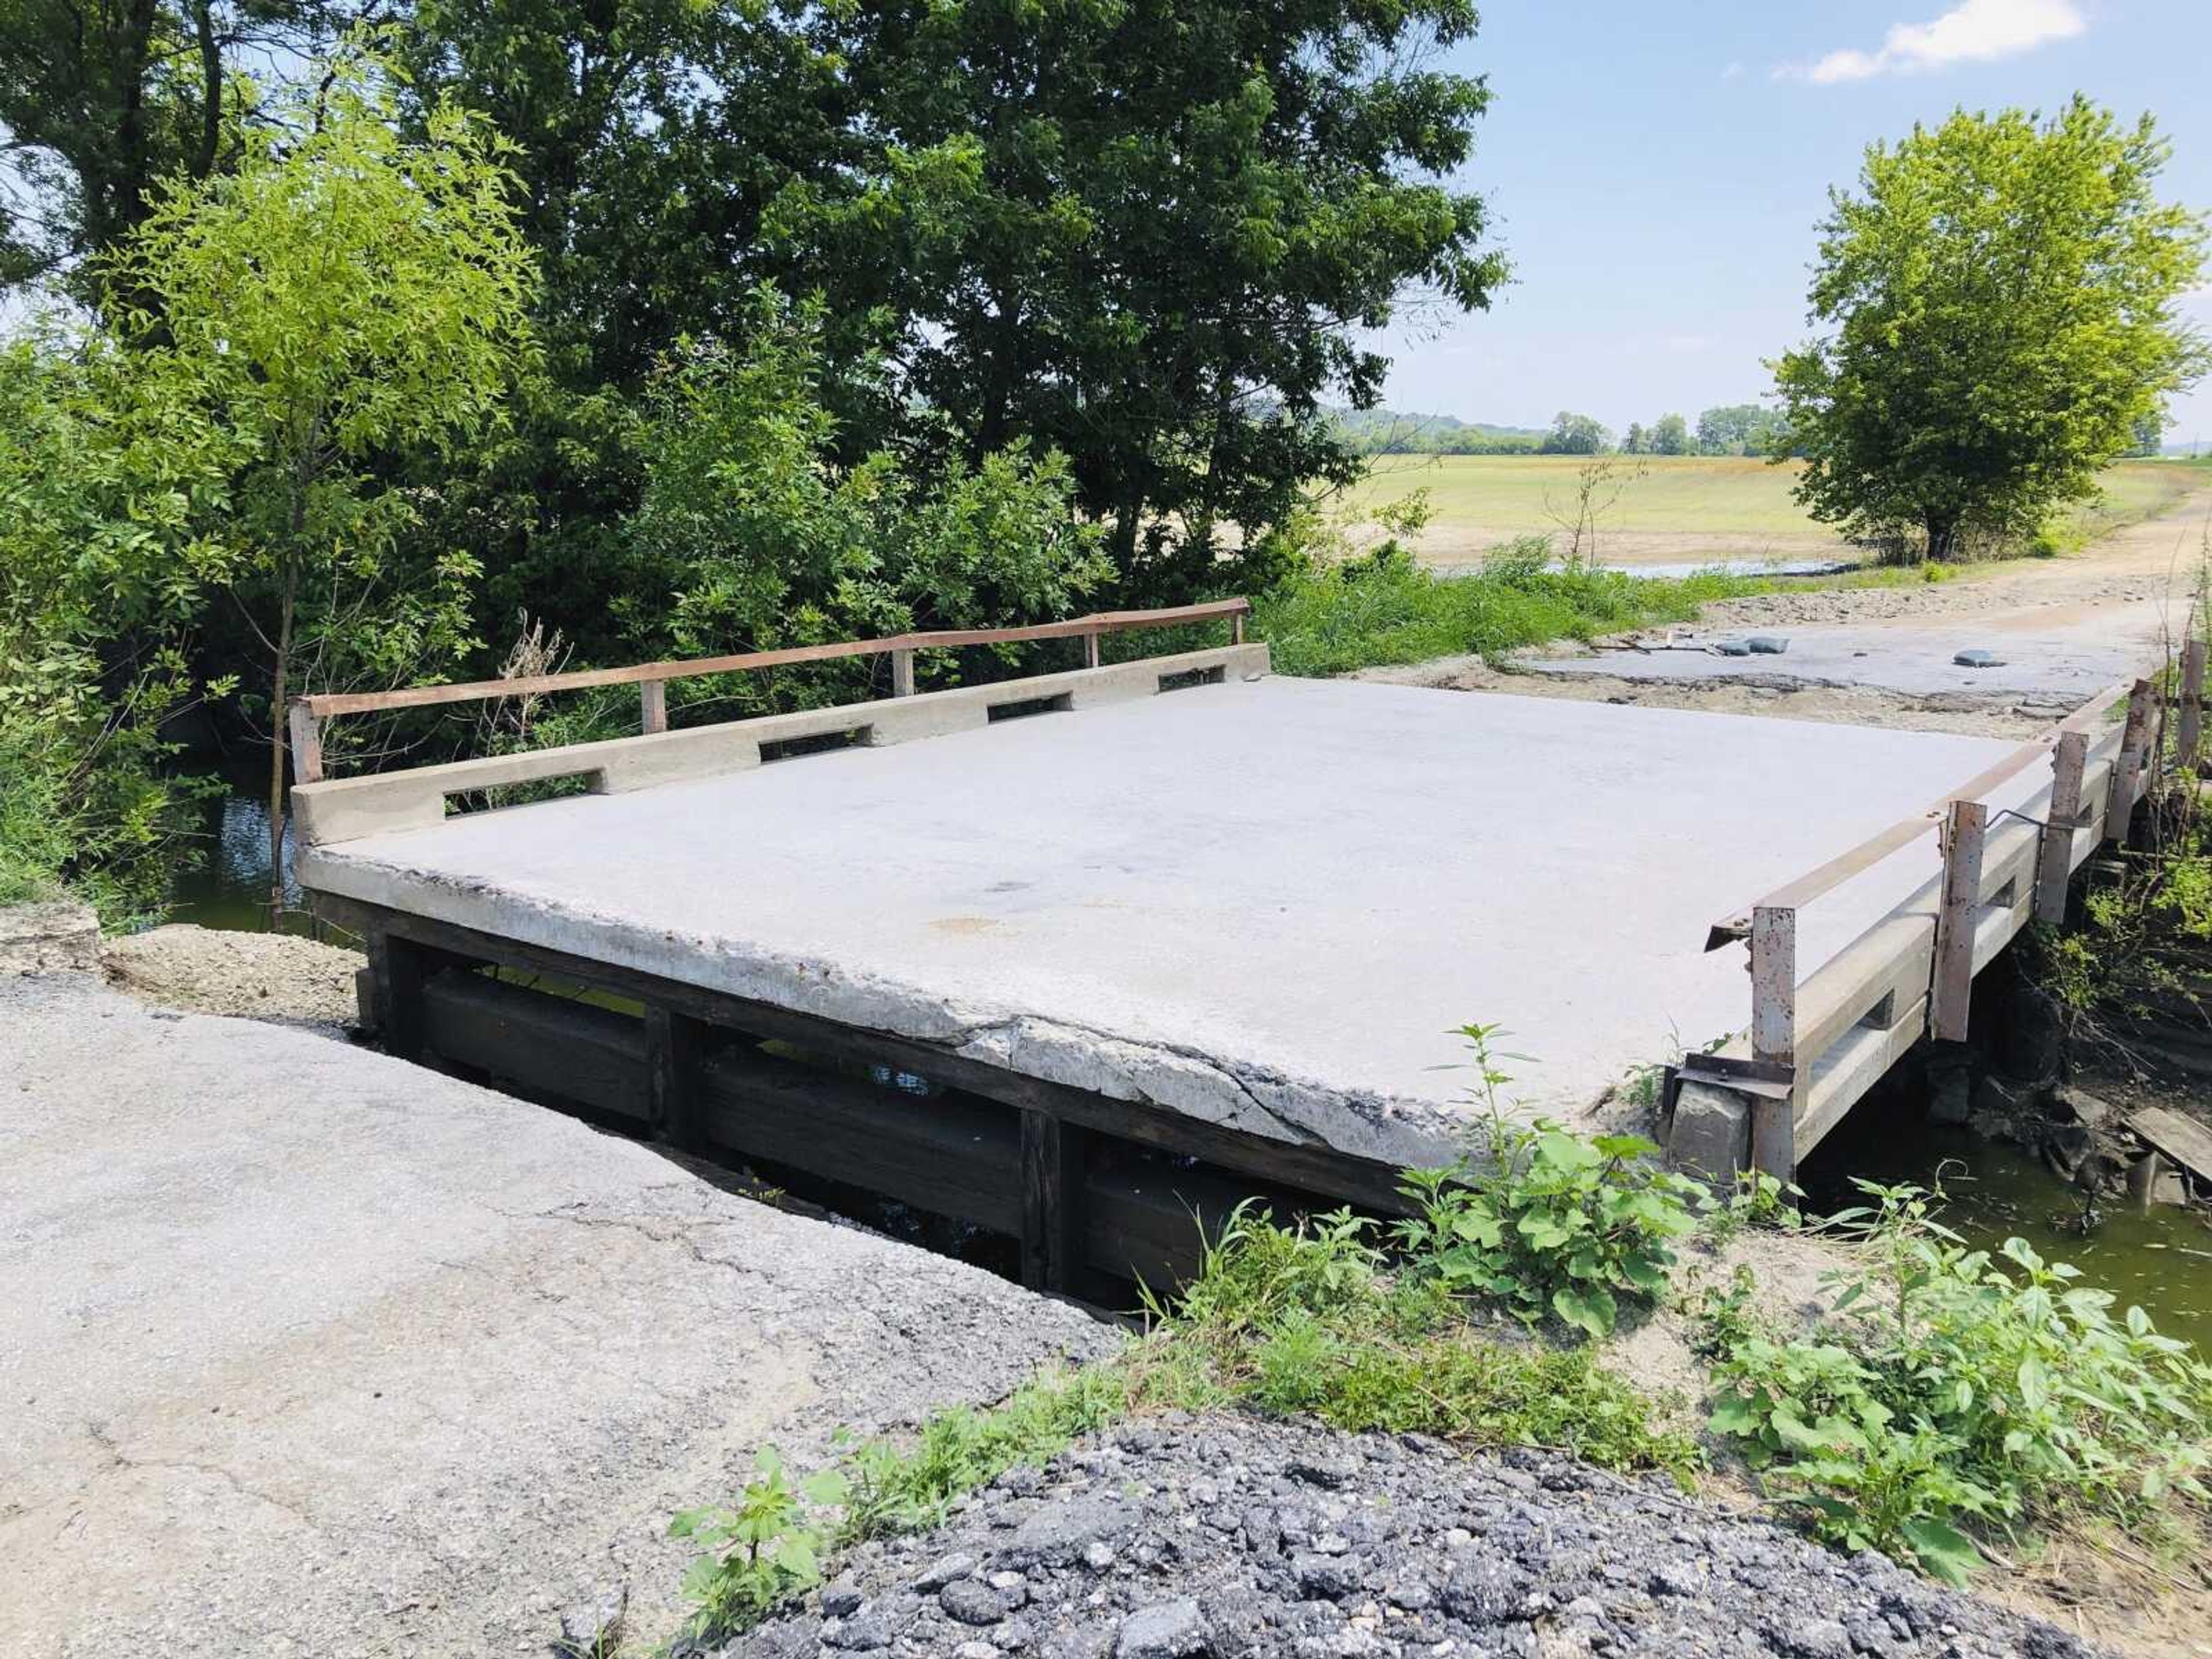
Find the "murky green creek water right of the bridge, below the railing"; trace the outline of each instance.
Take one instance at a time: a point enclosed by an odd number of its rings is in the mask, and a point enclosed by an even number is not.
[[[1829,1214],[1860,1201],[1849,1177],[1942,1186],[1942,1223],[1971,1245],[2026,1239],[2046,1261],[2070,1261],[2081,1279],[2139,1305],[2168,1336],[2212,1354],[2212,1217],[2161,1203],[2148,1212],[2101,1199],[2084,1223],[2081,1197],[2020,1146],[1984,1141],[1918,1117],[1916,1102],[1876,1102],[1854,1113],[1805,1161],[1805,1208]]]

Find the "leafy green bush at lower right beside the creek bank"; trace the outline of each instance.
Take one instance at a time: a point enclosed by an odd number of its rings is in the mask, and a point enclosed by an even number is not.
[[[1860,1183],[1834,1217],[1867,1265],[1836,1281],[1825,1340],[1736,1332],[1712,1427],[1772,1467],[1812,1528],[1960,1582],[1964,1531],[2095,1513],[2124,1526],[2205,1498],[2212,1367],[2022,1239],[1995,1256],[1938,1225],[1929,1194]],[[1725,1310],[1721,1310],[1725,1312]]]

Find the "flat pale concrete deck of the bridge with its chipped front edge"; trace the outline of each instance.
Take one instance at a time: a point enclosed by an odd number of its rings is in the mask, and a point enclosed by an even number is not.
[[[1705,929],[2011,743],[1252,679],[314,852],[310,887],[1378,1157],[1739,1031]],[[2022,792],[2031,785],[2022,785]],[[1801,922],[1812,973],[1936,869]]]

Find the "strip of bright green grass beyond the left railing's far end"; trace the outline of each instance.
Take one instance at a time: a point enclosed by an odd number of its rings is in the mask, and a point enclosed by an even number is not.
[[[1252,633],[1272,648],[1279,675],[1343,675],[1431,657],[1495,659],[1553,639],[1690,622],[1710,599],[1763,586],[1721,573],[1637,580],[1619,571],[1544,571],[1533,549],[1462,577],[1405,562],[1354,562],[1259,599]]]

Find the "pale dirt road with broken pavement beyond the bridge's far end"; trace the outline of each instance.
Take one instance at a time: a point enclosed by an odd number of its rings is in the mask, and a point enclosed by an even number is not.
[[[1951,582],[1803,588],[1728,599],[1692,628],[1528,653],[1506,670],[1444,657],[1369,679],[1522,697],[1655,703],[1938,732],[2028,734],[2104,686],[2146,672],[2179,639],[2212,557],[2212,487],[2073,557],[2024,560]],[[1783,655],[1725,657],[1743,635]],[[1960,650],[1989,650],[1964,668]]]

